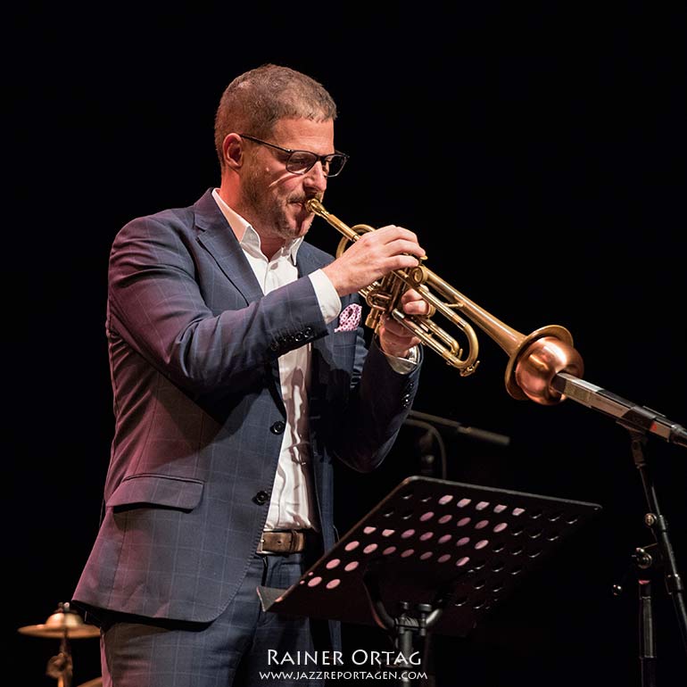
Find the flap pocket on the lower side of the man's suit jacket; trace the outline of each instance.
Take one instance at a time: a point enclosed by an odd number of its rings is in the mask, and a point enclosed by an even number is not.
[[[203,482],[198,479],[168,475],[134,475],[126,477],[114,490],[107,506],[116,511],[157,506],[193,510],[203,495]]]

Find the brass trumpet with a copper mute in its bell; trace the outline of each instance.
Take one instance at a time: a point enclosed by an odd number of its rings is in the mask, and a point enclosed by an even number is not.
[[[349,227],[328,212],[317,198],[310,198],[306,208],[343,235],[336,249],[337,258],[360,236],[376,230],[367,224]],[[565,396],[552,385],[554,377],[559,372],[575,377],[582,377],[584,373],[584,362],[573,347],[573,337],[567,328],[548,325],[529,335],[521,334],[427,269],[425,260],[421,259],[420,264],[412,269],[395,269],[360,289],[359,293],[369,307],[366,327],[377,333],[382,317],[392,317],[451,367],[457,368],[461,377],[467,377],[479,364],[479,341],[470,324],[472,322],[509,356],[505,384],[510,396],[517,400],[530,399],[541,405],[553,405],[564,400]],[[401,296],[410,288],[418,291],[427,302],[428,314],[418,316],[403,312]],[[436,313],[458,327],[467,339],[467,347],[461,346],[454,336],[435,323],[432,318]]]

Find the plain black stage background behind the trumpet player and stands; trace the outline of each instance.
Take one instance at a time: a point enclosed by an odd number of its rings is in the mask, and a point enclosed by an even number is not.
[[[326,20],[323,8],[280,4],[157,16],[150,6],[145,16],[29,6],[5,17],[12,683],[54,683],[44,673],[57,642],[17,629],[69,599],[95,536],[112,428],[103,335],[112,238],[128,219],[193,203],[218,183],[216,103],[229,79],[261,62],[309,72],[340,105],[336,145],[351,161],[330,184],[330,211],[415,229],[430,269],[459,291],[525,334],[568,327],[585,379],[687,424],[683,11],[551,5],[330,7]],[[310,237],[332,251],[338,242],[322,220]],[[628,434],[575,401],[514,401],[507,356],[478,337],[472,377],[428,354],[415,408],[512,441],[443,435],[446,476],[603,512],[475,633],[435,638],[435,682],[639,685],[636,583],[611,593],[634,548],[651,541]],[[417,439],[404,428],[374,475],[341,471],[342,530],[423,469]],[[687,453],[655,436],[647,453],[684,573]],[[388,648],[374,628],[344,629],[352,649]],[[661,584],[657,630],[659,684],[684,683]],[[97,641],[72,650],[75,684],[98,675]]]

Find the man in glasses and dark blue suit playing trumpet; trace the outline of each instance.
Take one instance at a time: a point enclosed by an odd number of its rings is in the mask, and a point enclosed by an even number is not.
[[[392,447],[419,341],[385,320],[368,352],[357,292],[424,252],[395,226],[336,260],[303,241],[306,202],[346,161],[335,117],[313,79],[246,72],[219,103],[219,188],[112,245],[115,434],[73,599],[102,626],[105,687],[269,685],[269,649],[337,646],[261,612],[256,587],[294,584],[334,544],[332,461],[365,472]]]

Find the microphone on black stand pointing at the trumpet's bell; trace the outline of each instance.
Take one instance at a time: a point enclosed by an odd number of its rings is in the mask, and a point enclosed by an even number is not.
[[[665,415],[608,392],[599,386],[585,382],[584,379],[559,372],[551,382],[553,388],[567,397],[582,403],[588,408],[617,418],[617,423],[624,426],[630,434],[630,448],[635,467],[639,470],[648,512],[644,524],[658,546],[661,567],[664,570],[666,589],[673,600],[677,624],[682,634],[683,646],[687,652],[687,607],[684,600],[684,586],[675,562],[675,551],[668,534],[668,522],[658,504],[656,486],[650,475],[645,446],[649,435],[656,435],[668,443],[687,447],[687,431],[684,427],[672,422]],[[653,565],[653,559],[646,553],[646,548],[637,549],[637,565],[646,570]],[[651,580],[647,575],[640,575],[640,662],[642,687],[654,687],[655,671],[655,636],[651,609]]]

